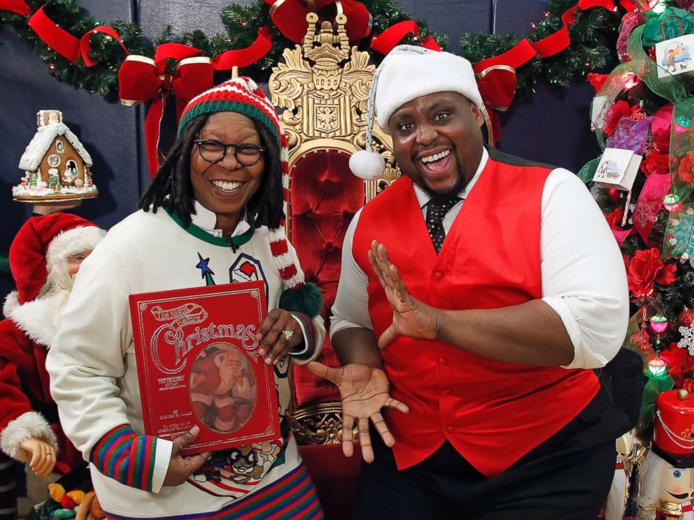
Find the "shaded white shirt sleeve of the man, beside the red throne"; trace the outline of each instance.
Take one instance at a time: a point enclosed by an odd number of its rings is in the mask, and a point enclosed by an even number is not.
[[[332,317],[330,318],[330,338],[344,328],[369,328],[371,317],[369,317],[369,294],[367,286],[369,284],[366,273],[357,264],[352,254],[352,241],[354,230],[357,227],[359,216],[362,210],[357,211],[350,222],[342,243],[342,266],[340,271],[340,282],[337,286],[337,296],[332,305]]]

